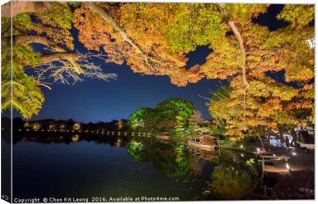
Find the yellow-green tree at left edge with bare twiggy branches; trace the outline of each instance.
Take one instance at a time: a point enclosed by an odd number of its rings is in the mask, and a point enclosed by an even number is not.
[[[70,3],[72,4],[72,3]],[[82,77],[108,81],[115,74],[105,74],[100,66],[90,60],[106,58],[104,54],[73,52],[73,12],[68,3],[14,2],[21,9],[12,18],[12,106],[23,118],[37,115],[44,102],[39,86],[51,89],[52,83],[75,83]],[[10,5],[9,3],[4,6]],[[31,15],[36,20],[31,19]],[[11,107],[11,18],[2,16],[2,111]],[[36,34],[27,31],[35,30]],[[45,34],[46,36],[44,36]],[[49,39],[47,38],[49,37]],[[42,44],[44,53],[35,53],[30,43]],[[62,47],[65,44],[65,47]],[[72,52],[71,52],[72,51]],[[25,74],[25,68],[33,69],[33,76]]]

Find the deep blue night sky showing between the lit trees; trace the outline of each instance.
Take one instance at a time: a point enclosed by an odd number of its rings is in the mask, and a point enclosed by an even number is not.
[[[286,22],[275,19],[282,7],[282,5],[270,6],[267,14],[259,16],[254,21],[269,26],[270,30],[286,26]],[[75,29],[72,33],[75,38],[75,49],[81,53],[87,52],[83,44],[77,41]],[[210,52],[206,47],[199,47],[195,52],[189,53],[187,67],[195,63],[203,64]],[[133,73],[127,65],[106,64],[101,60],[94,62],[101,64],[105,73],[118,74],[117,80],[105,82],[85,78],[86,81],[74,85],[52,85],[52,90],[43,87],[45,102],[39,114],[33,116],[31,120],[53,118],[97,122],[127,119],[138,108],[154,108],[157,103],[170,98],[190,100],[196,109],[202,111],[203,118],[211,118],[208,107],[205,105],[207,100],[198,95],[210,98],[208,90],[209,88],[212,91],[216,90],[221,85],[219,80],[202,79],[186,87],[177,87],[170,83],[167,76],[142,76],[139,73]],[[222,81],[223,85],[226,83]],[[14,111],[13,117],[19,117],[19,114]]]

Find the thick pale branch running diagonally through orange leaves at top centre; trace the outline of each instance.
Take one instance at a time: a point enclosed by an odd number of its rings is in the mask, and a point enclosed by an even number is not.
[[[140,54],[141,56],[144,57],[146,64],[150,67],[152,71],[153,67],[148,61],[148,55],[144,53],[139,46],[127,35],[125,30],[120,27],[120,25],[117,24],[117,22],[110,16],[108,13],[106,13],[101,7],[99,7],[96,3],[94,2],[87,2],[84,3],[92,12],[96,13],[98,16],[103,18],[105,21],[107,21],[110,25],[113,26],[114,30],[118,33],[121,34],[123,39],[128,42],[136,51],[137,54]]]

